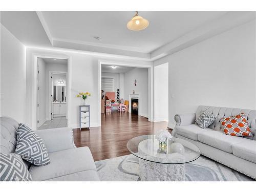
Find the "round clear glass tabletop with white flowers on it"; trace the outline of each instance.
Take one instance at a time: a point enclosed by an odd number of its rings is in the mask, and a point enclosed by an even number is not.
[[[167,140],[166,145],[160,145],[155,135],[142,135],[129,140],[126,146],[138,158],[155,163],[189,163],[200,156],[196,145],[174,137]]]

